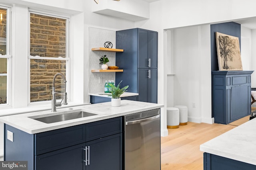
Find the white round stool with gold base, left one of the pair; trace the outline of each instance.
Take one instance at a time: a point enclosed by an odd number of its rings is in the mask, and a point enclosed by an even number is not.
[[[167,128],[176,129],[179,128],[180,113],[176,107],[167,107]]]

